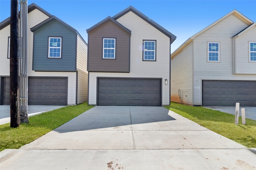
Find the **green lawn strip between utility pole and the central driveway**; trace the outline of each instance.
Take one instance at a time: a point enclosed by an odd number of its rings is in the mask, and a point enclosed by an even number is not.
[[[29,123],[21,123],[17,128],[10,127],[10,123],[0,125],[0,151],[19,149],[92,107],[87,103],[62,107],[29,117]]]

